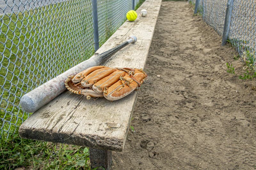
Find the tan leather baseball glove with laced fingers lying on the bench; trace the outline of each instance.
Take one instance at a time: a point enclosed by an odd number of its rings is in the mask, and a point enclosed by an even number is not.
[[[147,74],[137,68],[95,66],[68,76],[66,88],[72,93],[91,97],[105,97],[114,101],[132,93],[146,80]]]

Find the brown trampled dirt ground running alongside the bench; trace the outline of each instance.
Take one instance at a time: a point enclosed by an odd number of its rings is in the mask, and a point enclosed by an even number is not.
[[[112,169],[256,168],[256,83],[227,73],[226,62],[237,72],[243,63],[220,44],[187,2],[162,2],[135,132],[113,152]]]

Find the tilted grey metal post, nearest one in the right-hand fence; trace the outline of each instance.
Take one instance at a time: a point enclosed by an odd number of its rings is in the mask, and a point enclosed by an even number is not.
[[[221,46],[224,46],[228,40],[228,32],[229,32],[229,26],[231,21],[232,9],[233,9],[233,0],[228,0]]]

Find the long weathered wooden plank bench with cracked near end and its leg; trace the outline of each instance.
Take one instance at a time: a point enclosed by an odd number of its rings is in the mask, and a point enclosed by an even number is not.
[[[154,33],[161,0],[146,0],[137,10],[134,22],[126,21],[96,53],[102,53],[123,42],[130,35],[131,44],[112,56],[108,67],[144,68]],[[148,15],[140,17],[146,9]],[[66,91],[47,103],[20,126],[22,138],[88,146],[91,166],[111,166],[112,151],[122,151],[137,92],[110,102],[105,98],[86,100],[85,96]]]

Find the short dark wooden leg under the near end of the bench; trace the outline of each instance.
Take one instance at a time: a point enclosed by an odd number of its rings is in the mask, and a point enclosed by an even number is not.
[[[110,169],[112,163],[112,151],[89,149],[91,168],[102,166],[106,170]]]

